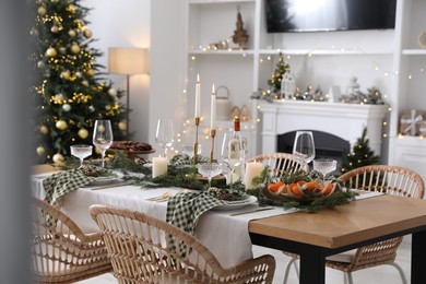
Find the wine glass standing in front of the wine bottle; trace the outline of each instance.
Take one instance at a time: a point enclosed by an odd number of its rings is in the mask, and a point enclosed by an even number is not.
[[[234,137],[233,132],[224,133],[221,149],[222,161],[229,169],[229,188],[233,186],[233,176],[236,167],[244,162],[244,146],[241,137]]]

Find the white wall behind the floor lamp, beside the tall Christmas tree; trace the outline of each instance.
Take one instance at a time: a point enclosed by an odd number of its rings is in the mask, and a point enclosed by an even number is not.
[[[93,32],[93,47],[104,52],[97,62],[107,72],[108,47],[141,47],[151,45],[151,0],[84,0],[82,5],[92,8],[86,20]],[[116,88],[126,90],[126,75],[110,74]],[[130,131],[134,140],[149,140],[150,75],[130,76]],[[126,98],[123,98],[126,104]]]

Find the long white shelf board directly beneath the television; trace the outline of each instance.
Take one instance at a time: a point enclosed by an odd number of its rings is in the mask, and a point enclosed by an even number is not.
[[[393,55],[392,50],[356,50],[356,49],[261,49],[259,50],[260,55],[295,55],[295,56],[364,56],[364,55],[382,55],[391,56]]]

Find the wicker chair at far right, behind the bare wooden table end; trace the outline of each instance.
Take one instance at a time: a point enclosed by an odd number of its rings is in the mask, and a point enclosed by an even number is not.
[[[424,196],[424,181],[422,177],[407,168],[387,165],[364,166],[347,171],[339,177],[347,188],[367,191],[380,191],[387,194],[422,199]],[[381,264],[393,265],[400,273],[402,282],[406,279],[401,267],[395,262],[397,250],[402,237],[391,238],[355,250],[346,251],[327,258],[326,265],[345,273],[345,283],[353,283],[352,272]],[[288,268],[295,263],[293,258],[287,264],[284,276],[286,282]],[[347,282],[346,282],[347,281]]]

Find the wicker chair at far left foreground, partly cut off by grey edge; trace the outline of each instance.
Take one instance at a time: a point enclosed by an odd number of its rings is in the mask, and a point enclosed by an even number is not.
[[[113,271],[99,233],[86,235],[59,209],[33,201],[31,265],[36,283],[73,283]]]

